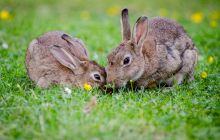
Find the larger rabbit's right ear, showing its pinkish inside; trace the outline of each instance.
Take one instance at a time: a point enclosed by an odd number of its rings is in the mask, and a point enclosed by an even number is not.
[[[144,40],[148,33],[148,18],[146,16],[141,16],[137,19],[134,29],[132,39],[138,44],[138,46],[142,46]]]

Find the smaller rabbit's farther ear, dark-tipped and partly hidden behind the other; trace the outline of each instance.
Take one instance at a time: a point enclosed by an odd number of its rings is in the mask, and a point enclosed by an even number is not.
[[[85,49],[85,44],[81,40],[71,38],[67,34],[63,34],[61,38],[67,41],[68,44],[71,44],[71,46],[75,48],[74,52],[77,52],[77,54],[74,55],[79,55],[80,57],[84,57],[84,58],[88,57],[88,52]]]

